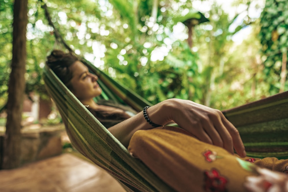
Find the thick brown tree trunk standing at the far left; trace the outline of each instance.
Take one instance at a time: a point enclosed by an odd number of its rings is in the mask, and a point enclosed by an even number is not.
[[[27,5],[28,0],[15,0],[14,2],[13,56],[8,88],[3,169],[20,166],[21,120],[26,71]]]

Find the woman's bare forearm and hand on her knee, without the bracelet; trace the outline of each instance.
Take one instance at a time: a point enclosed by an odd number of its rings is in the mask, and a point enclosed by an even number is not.
[[[240,156],[246,155],[238,130],[219,110],[190,100],[168,99],[147,109],[147,114],[156,124],[174,121],[201,141],[225,148],[230,153],[234,147]],[[143,113],[138,113],[108,130],[127,147],[136,131],[150,128],[153,127],[146,122]]]

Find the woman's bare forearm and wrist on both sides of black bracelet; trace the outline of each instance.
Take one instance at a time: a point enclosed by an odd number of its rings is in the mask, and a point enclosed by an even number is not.
[[[159,125],[165,125],[169,120],[165,113],[167,102],[161,102],[147,109],[148,117],[151,121]],[[144,118],[143,112],[138,113],[117,125],[108,128],[108,131],[114,135],[125,147],[128,147],[132,135],[138,130],[151,129],[151,126]]]

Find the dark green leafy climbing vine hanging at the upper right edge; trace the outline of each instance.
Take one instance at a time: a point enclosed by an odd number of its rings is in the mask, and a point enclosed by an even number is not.
[[[280,74],[283,54],[288,46],[288,3],[280,0],[266,0],[261,15],[261,40],[264,53],[265,80],[270,84],[270,93],[276,94],[280,89]],[[288,69],[288,66],[287,66]],[[288,82],[286,77],[286,89]]]

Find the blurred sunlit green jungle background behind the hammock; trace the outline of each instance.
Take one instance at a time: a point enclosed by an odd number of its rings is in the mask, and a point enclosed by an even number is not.
[[[0,106],[8,96],[13,3],[0,2]],[[60,35],[77,54],[153,104],[181,98],[222,110],[288,88],[287,1],[44,3]],[[28,1],[25,79],[26,93],[45,98],[41,71],[46,56],[63,47],[54,38],[42,4]]]

